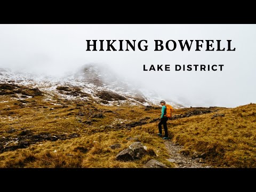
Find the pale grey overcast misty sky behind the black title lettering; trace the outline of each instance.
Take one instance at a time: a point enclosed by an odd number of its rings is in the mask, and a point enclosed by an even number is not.
[[[237,107],[256,102],[255,34],[256,25],[0,25],[0,67],[62,74],[100,63],[163,99],[198,107]],[[136,46],[135,51],[86,51],[87,39],[146,39],[148,50]],[[177,49],[154,51],[155,39],[164,44],[173,39]],[[204,40],[202,51],[195,51],[195,41],[190,51],[181,51],[179,39]],[[236,51],[205,51],[206,39],[214,40],[215,50],[217,39],[226,50],[231,39]],[[119,49],[118,43],[113,45]],[[174,70],[174,65],[196,64],[224,66],[222,71]],[[171,71],[143,71],[143,65],[170,65]]]

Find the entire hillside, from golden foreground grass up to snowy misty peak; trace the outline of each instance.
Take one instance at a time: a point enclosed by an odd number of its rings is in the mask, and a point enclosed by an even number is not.
[[[161,107],[150,101],[158,99],[106,74],[92,66],[65,78],[1,69],[0,167],[142,167],[150,159],[174,167],[156,136]],[[255,122],[251,103],[176,107],[167,126],[184,155],[212,167],[256,167]],[[117,161],[134,141],[147,147],[145,156]]]

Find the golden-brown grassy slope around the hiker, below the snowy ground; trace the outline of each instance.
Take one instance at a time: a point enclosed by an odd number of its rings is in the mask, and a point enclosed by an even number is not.
[[[143,106],[106,107],[92,105],[92,102],[47,101],[43,96],[26,100],[29,102],[22,107],[20,101],[0,95],[0,101],[8,101],[0,102],[1,138],[17,138],[23,130],[30,130],[31,134],[78,133],[79,137],[42,141],[24,149],[5,151],[0,154],[0,167],[142,167],[151,158],[169,167],[174,166],[166,161],[168,153],[164,141],[156,137],[158,122],[149,123],[151,119],[159,117],[160,108],[146,111]],[[183,152],[187,155],[195,151],[205,153],[206,161],[214,166],[256,167],[256,105],[216,109],[218,111],[214,113],[168,121],[172,140],[183,145]],[[177,109],[174,114],[189,110],[191,108]],[[83,116],[78,115],[81,112]],[[91,118],[95,113],[103,113],[104,117]],[[212,119],[214,114],[225,116]],[[138,122],[144,117],[150,117],[145,125],[129,129],[122,127],[122,122]],[[87,124],[87,121],[92,123]],[[107,126],[116,124],[119,125],[112,128]],[[11,129],[15,131],[6,132]],[[135,141],[129,138],[137,138],[147,146],[149,153],[132,162],[116,161],[115,156],[119,151]],[[120,143],[121,148],[109,147],[115,143]],[[153,150],[157,156],[151,153]]]

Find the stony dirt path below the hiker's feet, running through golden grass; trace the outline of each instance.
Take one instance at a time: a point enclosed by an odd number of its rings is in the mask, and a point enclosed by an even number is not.
[[[179,151],[183,148],[183,146],[175,145],[172,141],[164,141],[165,146],[169,152],[170,157],[167,159],[169,162],[175,163],[176,168],[212,168],[212,166],[207,165],[203,162],[203,159],[193,159],[182,155]]]

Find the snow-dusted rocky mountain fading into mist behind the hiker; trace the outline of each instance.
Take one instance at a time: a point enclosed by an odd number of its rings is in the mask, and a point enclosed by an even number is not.
[[[57,96],[67,100],[93,100],[107,106],[159,105],[159,101],[163,99],[154,91],[134,89],[132,84],[124,82],[113,71],[92,63],[61,77],[0,68],[0,82],[38,88],[49,98]],[[174,108],[184,107],[172,100],[166,102]]]

